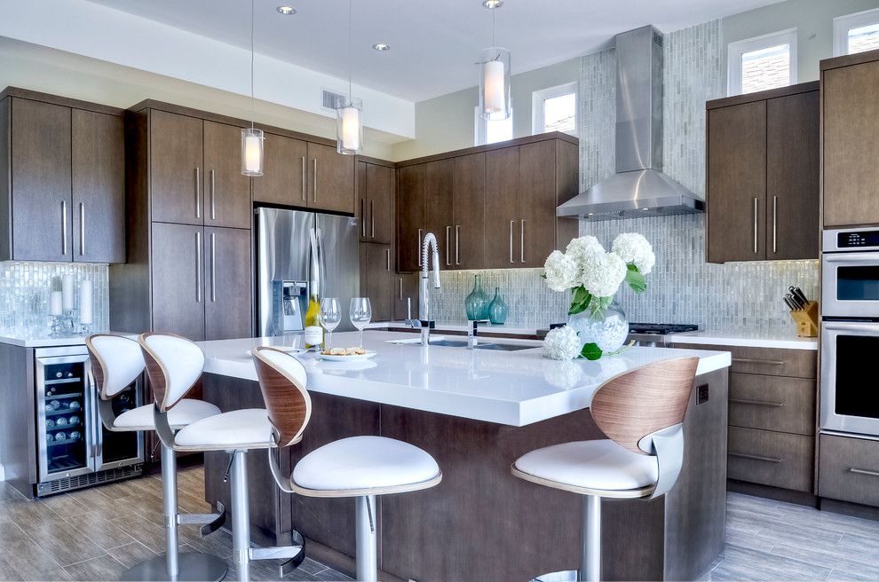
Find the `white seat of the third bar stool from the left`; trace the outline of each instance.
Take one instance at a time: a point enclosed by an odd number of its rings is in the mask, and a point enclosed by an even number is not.
[[[385,436],[351,436],[324,444],[297,463],[290,477],[296,489],[381,495],[421,489],[440,476],[440,466],[413,444]]]

